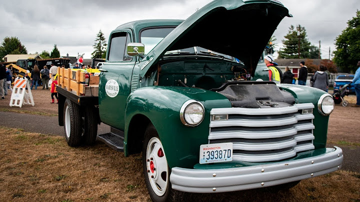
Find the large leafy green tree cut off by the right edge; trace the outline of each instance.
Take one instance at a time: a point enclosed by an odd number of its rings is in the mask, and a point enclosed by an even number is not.
[[[360,60],[360,10],[347,21],[347,27],[335,39],[334,62],[344,72],[356,70]]]

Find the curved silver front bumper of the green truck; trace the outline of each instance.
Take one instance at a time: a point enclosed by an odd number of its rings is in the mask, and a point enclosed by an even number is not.
[[[342,149],[302,159],[222,169],[173,167],[172,188],[185,192],[210,193],[245,190],[306,179],[341,167]]]

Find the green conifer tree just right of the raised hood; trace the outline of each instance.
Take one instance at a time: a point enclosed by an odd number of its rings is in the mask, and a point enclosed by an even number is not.
[[[312,45],[306,38],[305,27],[300,24],[294,27],[291,25],[287,34],[282,40],[284,48],[280,48],[280,58],[317,58],[319,49]]]

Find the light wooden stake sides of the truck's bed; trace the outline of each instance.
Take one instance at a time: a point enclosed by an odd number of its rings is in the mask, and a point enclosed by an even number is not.
[[[98,96],[98,75],[90,75],[89,85],[85,83],[85,72],[80,69],[57,67],[57,85],[78,96]]]

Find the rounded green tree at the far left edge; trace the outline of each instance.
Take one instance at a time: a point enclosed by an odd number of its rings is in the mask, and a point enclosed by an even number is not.
[[[0,59],[7,54],[27,54],[27,50],[21,41],[15,37],[4,37],[0,46]]]

